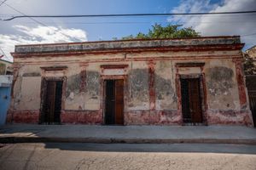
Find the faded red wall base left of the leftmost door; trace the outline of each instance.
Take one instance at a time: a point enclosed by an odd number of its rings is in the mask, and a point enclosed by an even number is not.
[[[39,122],[39,110],[9,110],[7,117],[7,123],[38,123]]]

